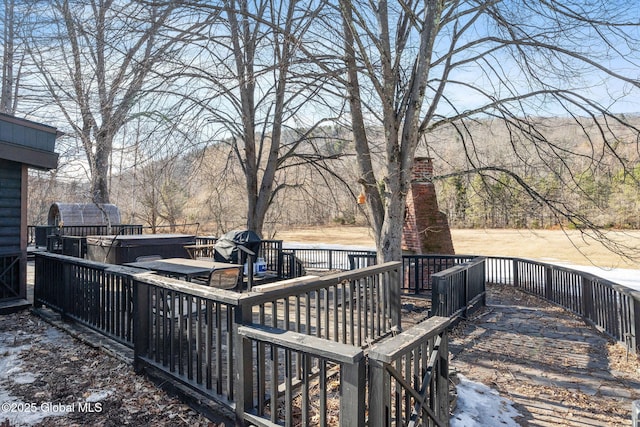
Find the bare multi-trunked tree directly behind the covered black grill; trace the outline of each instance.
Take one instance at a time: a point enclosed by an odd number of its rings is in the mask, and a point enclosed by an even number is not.
[[[300,50],[301,43],[309,43],[307,32],[321,6],[269,0],[198,5],[209,25],[194,37],[198,61],[190,61],[181,77],[197,111],[193,114],[206,115],[209,126],[218,129],[212,142],[229,144],[241,165],[247,228],[258,234],[277,194],[297,185],[278,182],[278,171],[327,159],[313,140],[335,114],[328,109],[330,114],[318,114],[326,107],[328,77]]]

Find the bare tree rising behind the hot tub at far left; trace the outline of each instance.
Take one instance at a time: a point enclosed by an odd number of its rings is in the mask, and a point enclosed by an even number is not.
[[[39,83],[39,114],[62,114],[60,125],[86,156],[90,195],[109,202],[114,138],[135,115],[151,117],[164,67],[178,50],[177,3],[55,0],[41,2],[29,52]],[[175,25],[175,26],[173,26]],[[41,85],[51,104],[43,103]]]

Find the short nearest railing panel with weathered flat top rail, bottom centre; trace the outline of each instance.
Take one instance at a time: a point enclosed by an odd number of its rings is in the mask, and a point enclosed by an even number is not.
[[[239,419],[249,425],[365,425],[362,349],[264,326],[241,326],[238,334],[244,379]]]

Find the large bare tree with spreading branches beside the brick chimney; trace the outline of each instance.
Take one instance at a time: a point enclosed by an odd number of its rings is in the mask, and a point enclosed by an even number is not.
[[[637,143],[638,129],[613,107],[624,95],[637,96],[640,82],[633,70],[640,20],[614,3],[339,2],[346,65],[339,82],[349,99],[360,182],[381,260],[401,255],[405,198],[419,142],[429,148],[429,135],[446,126],[459,135],[464,172],[475,171],[487,183],[509,176],[555,215],[590,224],[571,206],[545,199],[518,175],[517,165],[551,169],[560,160],[566,167],[569,156],[624,164],[612,144],[613,123],[630,131],[626,143]],[[536,121],[558,114],[593,124],[582,127],[590,153],[563,147]],[[485,163],[482,144],[491,141],[469,132],[483,118],[501,121],[510,141],[508,163]],[[384,129],[381,146],[368,138],[372,125]],[[376,156],[383,159],[382,170],[373,166]]]

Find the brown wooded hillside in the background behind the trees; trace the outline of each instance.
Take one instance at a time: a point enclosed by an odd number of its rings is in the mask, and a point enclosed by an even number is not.
[[[640,127],[639,117],[630,120]],[[421,141],[418,155],[434,159],[439,205],[450,224],[553,228],[568,224],[559,215],[564,210],[575,222],[569,226],[581,226],[589,218],[603,227],[640,228],[640,166],[631,133],[617,122],[603,130],[584,120],[537,121],[544,139],[485,120],[466,123],[464,132],[453,126],[434,129]],[[616,134],[615,146],[596,137],[601,131]],[[348,136],[344,129],[325,129],[305,149],[312,151],[313,146],[320,154],[334,156],[324,166],[335,176],[295,159],[282,164],[276,177],[282,191],[273,200],[267,234],[293,226],[367,223],[356,203],[360,186]],[[381,132],[371,129],[370,138],[380,140]],[[383,166],[381,158],[374,160]],[[632,169],[625,171],[621,161]],[[173,147],[171,153],[112,169],[111,202],[120,207],[126,222],[197,222],[212,234],[246,224],[244,175],[225,143],[188,152]],[[30,223],[44,221],[54,201],[90,200],[86,183],[62,180],[60,175],[31,176]]]

